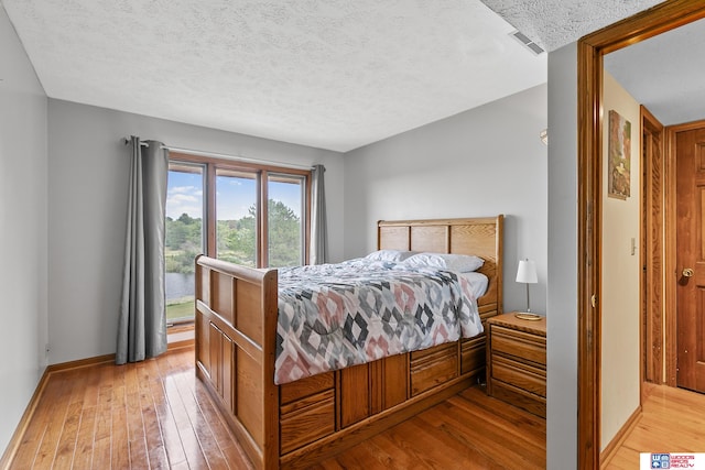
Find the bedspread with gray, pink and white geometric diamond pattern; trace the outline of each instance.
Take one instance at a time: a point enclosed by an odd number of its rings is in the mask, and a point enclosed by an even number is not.
[[[365,259],[279,270],[274,382],[482,332],[469,283]]]

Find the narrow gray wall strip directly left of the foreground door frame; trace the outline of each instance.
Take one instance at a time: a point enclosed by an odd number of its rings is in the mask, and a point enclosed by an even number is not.
[[[577,46],[549,54],[547,468],[577,467]]]

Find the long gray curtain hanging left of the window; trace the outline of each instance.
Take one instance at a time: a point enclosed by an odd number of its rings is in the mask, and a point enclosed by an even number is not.
[[[116,363],[166,351],[164,218],[169,151],[130,138],[132,162]]]

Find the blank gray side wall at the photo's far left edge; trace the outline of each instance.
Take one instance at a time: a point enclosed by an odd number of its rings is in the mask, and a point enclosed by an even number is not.
[[[46,95],[0,8],[0,452],[46,364]]]

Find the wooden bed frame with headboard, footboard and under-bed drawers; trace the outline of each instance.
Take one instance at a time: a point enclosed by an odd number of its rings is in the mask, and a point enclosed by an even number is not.
[[[380,221],[378,247],[477,254],[502,311],[503,216]],[[305,468],[482,379],[485,335],[274,384],[276,270],[196,260],[196,374],[258,469]]]

